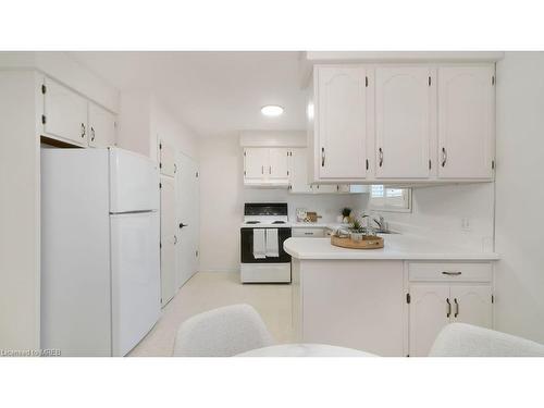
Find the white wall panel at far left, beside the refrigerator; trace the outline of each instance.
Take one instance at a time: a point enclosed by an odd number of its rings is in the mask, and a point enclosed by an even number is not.
[[[0,349],[39,348],[38,76],[0,72]]]

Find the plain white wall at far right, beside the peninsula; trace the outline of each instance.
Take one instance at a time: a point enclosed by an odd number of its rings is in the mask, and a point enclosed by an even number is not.
[[[496,326],[544,343],[544,53],[497,63]]]

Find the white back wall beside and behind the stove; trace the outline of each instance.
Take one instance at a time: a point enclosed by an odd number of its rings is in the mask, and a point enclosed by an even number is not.
[[[282,201],[289,217],[304,207],[334,221],[344,206],[362,202],[360,195],[292,195],[287,189],[245,188],[238,135],[202,139],[200,144],[200,264],[199,271],[239,270],[239,226],[244,202]]]

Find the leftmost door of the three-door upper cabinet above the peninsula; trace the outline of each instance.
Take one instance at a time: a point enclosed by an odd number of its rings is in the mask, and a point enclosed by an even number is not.
[[[319,178],[367,176],[367,72],[362,66],[314,70]]]

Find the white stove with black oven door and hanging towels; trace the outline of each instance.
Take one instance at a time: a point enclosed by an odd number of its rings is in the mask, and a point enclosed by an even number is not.
[[[286,202],[247,202],[240,225],[243,283],[290,283],[290,256],[283,243],[290,237]]]

